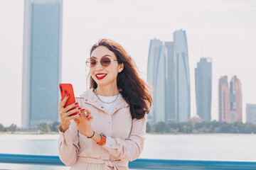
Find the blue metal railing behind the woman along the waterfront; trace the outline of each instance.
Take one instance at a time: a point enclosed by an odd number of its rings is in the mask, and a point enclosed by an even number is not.
[[[0,154],[0,163],[65,166],[58,156]],[[256,169],[256,162],[137,159],[129,169]]]

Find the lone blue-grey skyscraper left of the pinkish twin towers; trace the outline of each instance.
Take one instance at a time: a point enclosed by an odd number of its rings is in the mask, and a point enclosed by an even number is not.
[[[195,69],[196,79],[196,111],[205,121],[210,121],[212,93],[212,61],[211,58],[201,58]]]

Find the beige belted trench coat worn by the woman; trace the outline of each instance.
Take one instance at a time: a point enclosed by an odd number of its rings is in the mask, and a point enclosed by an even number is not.
[[[112,114],[105,112],[93,89],[75,98],[93,116],[92,129],[107,136],[103,146],[82,135],[71,120],[70,127],[60,132],[58,150],[60,160],[71,169],[129,169],[128,162],[142,153],[146,135],[146,117],[132,120],[129,105],[122,96],[115,103]]]

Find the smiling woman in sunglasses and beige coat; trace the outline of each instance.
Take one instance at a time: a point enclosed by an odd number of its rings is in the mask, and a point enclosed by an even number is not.
[[[148,86],[113,40],[93,45],[86,64],[90,90],[66,108],[68,95],[60,101],[60,160],[71,169],[129,169],[128,162],[139,157],[144,145],[152,102]]]

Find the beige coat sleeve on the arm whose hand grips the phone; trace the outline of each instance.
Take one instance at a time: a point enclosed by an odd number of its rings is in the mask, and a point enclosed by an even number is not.
[[[80,104],[79,98],[75,98],[75,101]],[[64,133],[60,132],[59,128],[59,133],[58,152],[60,160],[66,166],[72,166],[78,160],[78,151],[80,149],[78,128],[75,125],[75,121],[70,121],[70,126]]]

